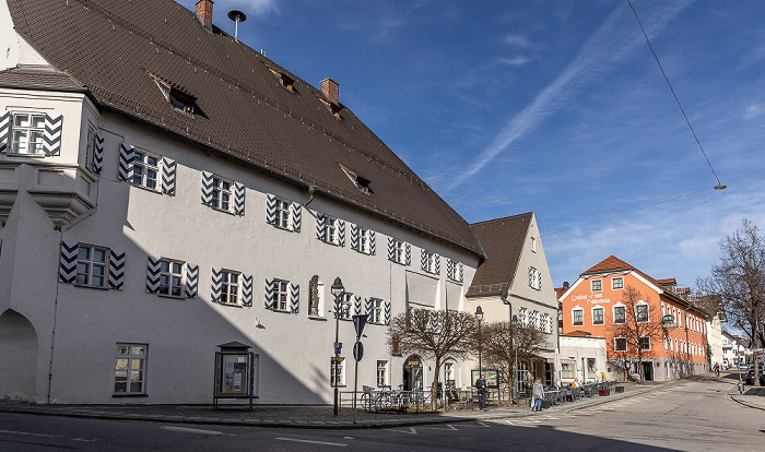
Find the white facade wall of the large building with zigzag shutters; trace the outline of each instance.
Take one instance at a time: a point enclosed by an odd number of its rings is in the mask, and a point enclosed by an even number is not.
[[[2,25],[11,23],[5,8],[0,2]],[[4,67],[45,62],[12,24],[2,29],[10,43]],[[210,155],[99,109],[83,92],[0,88],[0,115],[13,121],[21,114],[59,120],[60,151],[19,154],[9,140],[0,153],[0,359],[14,362],[0,369],[0,396],[210,403],[214,354],[236,341],[257,356],[259,403],[329,403],[336,277],[350,294],[351,314],[377,309],[362,340],[358,388],[403,382],[408,357],[390,354],[387,319],[412,304],[464,309],[479,257],[463,248]],[[126,159],[130,151],[156,157],[139,181],[141,164]],[[101,171],[94,170],[102,157]],[[128,180],[120,164],[133,165]],[[155,186],[145,178],[152,166]],[[217,207],[211,205],[217,191],[205,185],[212,178],[231,183],[228,209],[221,193]],[[289,202],[284,217],[278,200]],[[329,239],[320,233],[328,226],[322,215],[334,218]],[[367,234],[365,249],[352,249],[354,233]],[[391,239],[409,259],[390,259]],[[423,251],[435,269],[422,270]],[[452,278],[447,260],[459,265]],[[168,284],[160,282],[165,264]],[[237,279],[221,281],[224,274]],[[237,289],[236,302],[222,299],[223,286],[228,296]],[[349,320],[339,321],[341,391],[354,383],[353,331]],[[428,365],[416,384],[429,384]],[[461,364],[454,379],[470,384]]]

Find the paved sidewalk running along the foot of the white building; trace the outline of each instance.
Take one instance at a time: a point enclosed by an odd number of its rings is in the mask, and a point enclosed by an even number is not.
[[[588,408],[617,400],[645,394],[666,388],[668,383],[620,383],[624,392],[612,392],[608,396],[592,396],[566,403],[544,413],[566,413]],[[172,424],[207,424],[222,426],[322,428],[322,429],[369,429],[392,428],[428,424],[454,424],[483,421],[505,418],[529,417],[537,414],[528,407],[494,407],[487,412],[456,411],[448,413],[366,413],[358,409],[357,424],[353,424],[353,409],[343,406],[340,415],[332,415],[332,406],[275,406],[256,405],[250,412],[247,406],[223,406],[217,409],[210,405],[37,405],[13,401],[0,401],[0,412],[32,414],[40,416],[68,416],[81,418],[144,420]]]

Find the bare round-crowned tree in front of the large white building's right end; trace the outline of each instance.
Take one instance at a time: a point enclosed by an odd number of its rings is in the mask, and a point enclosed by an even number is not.
[[[402,354],[435,361],[431,408],[436,409],[440,365],[446,356],[464,358],[475,334],[475,318],[451,310],[410,309],[390,321],[388,344]]]

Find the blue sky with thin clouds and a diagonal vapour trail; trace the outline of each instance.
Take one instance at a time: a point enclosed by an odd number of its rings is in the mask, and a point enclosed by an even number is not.
[[[240,10],[240,41],[336,80],[469,223],[533,211],[556,287],[611,254],[693,287],[765,228],[765,3],[632,3],[698,143],[626,0],[216,0],[213,23]]]

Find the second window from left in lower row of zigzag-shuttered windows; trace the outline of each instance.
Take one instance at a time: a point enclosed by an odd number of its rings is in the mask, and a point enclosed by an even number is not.
[[[174,259],[149,257],[146,292],[175,298],[197,298],[199,265]]]

